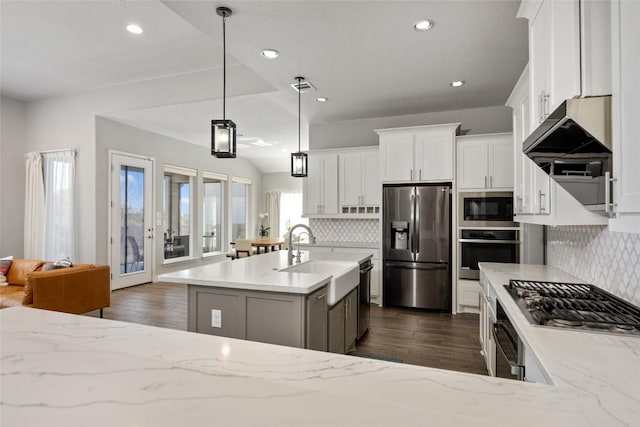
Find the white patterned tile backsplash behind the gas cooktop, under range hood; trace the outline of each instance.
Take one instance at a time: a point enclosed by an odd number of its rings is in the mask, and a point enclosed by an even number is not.
[[[640,234],[548,227],[547,264],[640,306]]]

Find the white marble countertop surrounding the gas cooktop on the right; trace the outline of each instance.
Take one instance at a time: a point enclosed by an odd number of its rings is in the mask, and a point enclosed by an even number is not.
[[[509,279],[584,283],[553,267],[480,263],[520,339],[555,387],[594,426],[640,425],[640,338],[533,326],[503,285]]]

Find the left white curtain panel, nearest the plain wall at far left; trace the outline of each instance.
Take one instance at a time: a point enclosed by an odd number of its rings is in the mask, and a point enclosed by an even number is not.
[[[24,258],[43,259],[44,180],[40,153],[25,153]]]

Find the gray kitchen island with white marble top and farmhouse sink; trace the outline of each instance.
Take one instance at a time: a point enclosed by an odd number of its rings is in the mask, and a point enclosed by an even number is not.
[[[288,265],[287,252],[278,251],[160,279],[189,285],[189,331],[314,350],[327,350],[337,340],[344,352],[355,344],[352,334],[346,345],[341,335],[345,322],[347,332],[357,327],[358,266],[371,257],[302,252],[299,262]],[[342,324],[336,326],[337,320]]]

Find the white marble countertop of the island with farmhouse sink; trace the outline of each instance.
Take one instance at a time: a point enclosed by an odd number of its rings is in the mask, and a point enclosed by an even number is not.
[[[331,253],[310,253],[309,251],[302,251],[301,254],[301,262],[339,260],[353,262],[354,265],[371,258],[373,255],[357,253],[336,255]],[[297,264],[299,263],[294,263],[294,265]],[[279,271],[287,267],[287,251],[275,251],[233,261],[223,261],[165,273],[159,276],[159,280],[190,285],[306,295],[320,288],[332,277],[330,274]],[[355,286],[357,286],[357,283]]]

